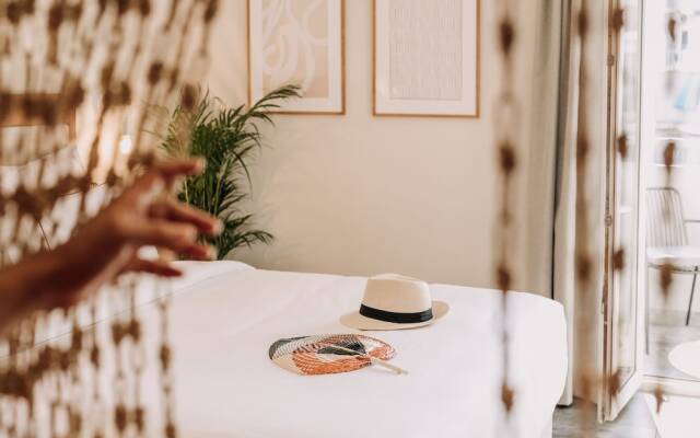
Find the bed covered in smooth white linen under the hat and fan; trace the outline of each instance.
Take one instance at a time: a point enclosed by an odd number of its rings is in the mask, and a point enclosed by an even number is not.
[[[380,368],[300,377],[268,347],[281,337],[343,333],[365,280],[232,270],[182,289],[173,306],[178,422],[185,437],[540,438],[563,390],[562,308],[527,293],[510,298],[509,425],[500,403],[500,293],[433,286],[452,307],[427,328],[372,332],[398,351],[408,376]]]

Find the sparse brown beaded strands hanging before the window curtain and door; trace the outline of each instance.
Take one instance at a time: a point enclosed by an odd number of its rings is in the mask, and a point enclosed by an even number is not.
[[[513,410],[514,403],[517,401],[517,394],[511,387],[509,377],[509,327],[508,327],[508,295],[513,283],[513,242],[515,242],[515,229],[514,229],[514,195],[513,195],[513,180],[518,166],[518,128],[520,128],[520,107],[514,93],[516,89],[515,84],[515,68],[514,68],[514,47],[517,42],[517,28],[516,21],[514,20],[514,13],[516,10],[517,1],[515,0],[500,0],[499,2],[499,19],[497,24],[499,53],[501,55],[501,84],[500,93],[495,101],[495,152],[497,152],[497,169],[500,175],[501,196],[499,200],[499,207],[495,215],[495,262],[494,262],[494,277],[499,289],[502,292],[502,310],[501,310],[501,333],[502,333],[502,354],[503,354],[503,368],[502,368],[502,383],[501,383],[501,400],[503,408],[508,414]],[[574,2],[576,3],[576,2]],[[590,201],[587,198],[588,185],[588,166],[591,165],[591,152],[592,148],[605,148],[605,145],[595,145],[591,140],[591,127],[588,122],[588,72],[593,66],[590,66],[591,60],[586,56],[586,50],[590,46],[591,39],[591,16],[590,16],[588,0],[581,0],[578,2],[574,10],[574,30],[576,32],[576,38],[574,41],[578,44],[579,53],[579,70],[576,72],[576,87],[578,87],[578,106],[576,106],[576,132],[575,132],[575,212],[576,212],[576,229],[575,229],[575,247],[574,247],[574,273],[575,273],[575,288],[583,296],[588,298],[595,297],[595,283],[593,281],[594,254],[591,249],[591,223],[590,223]],[[615,38],[621,37],[621,30],[625,24],[625,9],[616,8],[611,10],[608,26]],[[666,37],[668,38],[669,46],[675,45],[677,39],[677,19],[673,14],[669,14],[667,22]],[[597,67],[596,67],[597,68]],[[669,69],[666,73],[666,93],[670,95],[674,90],[674,71]],[[669,141],[664,149],[664,165],[666,169],[666,185],[670,186],[673,176],[673,164],[676,155],[676,145],[674,141]],[[628,146],[628,132],[619,132],[619,137],[616,141],[616,153],[621,159],[626,159],[629,153]],[[668,207],[668,206],[667,206]],[[670,220],[670,211],[665,211],[665,219]],[[610,257],[606,257],[606,263],[610,265],[615,275],[621,274],[625,266],[626,249],[617,247],[612,249]],[[667,304],[668,296],[670,293],[672,274],[674,266],[666,262],[661,268],[660,287]],[[608,283],[611,284],[611,283]],[[649,303],[646,304],[649,306]],[[595,331],[594,321],[595,315],[590,310],[583,310],[587,312],[585,318],[581,321],[583,324],[578,330],[578,341],[583,345],[590,345]],[[662,359],[663,360],[663,359]],[[585,361],[584,361],[585,362]],[[598,396],[598,391],[602,388],[607,389],[607,393],[616,397],[619,393],[622,382],[620,381],[620,371],[616,371],[603,379],[598,374],[595,367],[586,365],[582,370],[582,377],[580,380],[580,388],[583,400],[593,401]],[[604,387],[605,385],[605,387]],[[661,411],[664,401],[664,391],[661,384],[654,390],[656,399],[656,408]],[[579,423],[582,425],[590,425],[596,420],[595,405],[593,403],[583,402],[583,407],[579,411]],[[592,436],[593,428],[585,427],[584,434]]]

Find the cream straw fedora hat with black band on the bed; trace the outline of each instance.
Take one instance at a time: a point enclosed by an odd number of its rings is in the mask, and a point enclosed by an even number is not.
[[[359,330],[401,330],[432,324],[450,306],[432,301],[425,281],[397,274],[368,279],[360,311],[345,314],[340,323]]]

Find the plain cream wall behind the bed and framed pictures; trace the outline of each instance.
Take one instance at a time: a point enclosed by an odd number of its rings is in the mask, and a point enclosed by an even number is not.
[[[534,44],[523,43],[534,41],[537,24],[527,4],[534,1],[518,2],[523,9],[516,15],[525,23],[516,74],[524,107],[536,92],[527,87]],[[491,102],[499,59],[492,32],[483,32],[493,28],[494,2],[481,2],[481,118],[380,118],[372,116],[372,1],[346,0],[347,115],[278,116],[276,128],[265,129],[270,147],[254,166],[250,208],[277,240],[240,251],[236,258],[268,269],[398,272],[430,281],[493,285]],[[245,0],[228,0],[222,8],[209,87],[238,104],[247,95]],[[521,174],[521,195],[526,176]],[[526,201],[516,203],[522,218]],[[518,257],[526,255],[522,246]],[[516,280],[526,288],[522,275]]]

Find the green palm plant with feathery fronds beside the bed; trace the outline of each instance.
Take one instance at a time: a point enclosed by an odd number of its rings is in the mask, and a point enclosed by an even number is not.
[[[201,157],[207,165],[199,175],[183,181],[178,197],[222,222],[222,232],[202,238],[224,258],[231,251],[255,243],[270,243],[272,235],[255,228],[253,215],[241,209],[250,189],[249,165],[262,145],[260,124],[272,124],[270,112],[287,99],[299,97],[294,85],[275,90],[250,107],[226,107],[208,93],[186,110],[170,115],[161,147],[171,157]],[[187,135],[183,135],[187,134]]]

